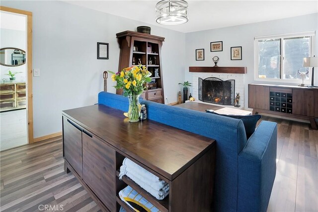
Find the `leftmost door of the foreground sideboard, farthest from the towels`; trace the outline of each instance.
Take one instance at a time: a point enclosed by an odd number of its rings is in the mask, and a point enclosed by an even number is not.
[[[81,128],[63,116],[63,155],[82,178]]]

